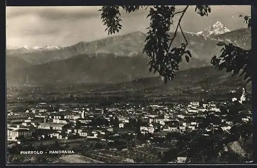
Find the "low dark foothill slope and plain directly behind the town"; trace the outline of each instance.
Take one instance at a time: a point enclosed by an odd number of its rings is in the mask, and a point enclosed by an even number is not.
[[[80,97],[83,101],[112,101],[112,98],[122,100],[189,100],[197,98],[205,99],[231,99],[230,90],[242,87],[242,77],[225,71],[217,71],[213,67],[193,68],[176,73],[176,78],[164,85],[160,77],[149,76],[137,78],[131,81],[117,83],[45,83],[44,87],[11,87],[8,89],[8,101],[16,101],[15,97],[26,100],[37,100],[43,97],[45,100],[65,99],[69,94]],[[246,90],[251,91],[251,83]],[[237,95],[239,96],[239,95]],[[89,98],[89,99],[88,99]],[[104,99],[108,98],[108,99]],[[70,99],[68,100],[70,101]]]

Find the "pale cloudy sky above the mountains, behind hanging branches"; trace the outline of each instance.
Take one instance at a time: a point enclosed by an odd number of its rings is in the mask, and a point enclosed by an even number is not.
[[[80,41],[93,41],[108,37],[101,22],[100,6],[72,7],[6,7],[7,47],[71,46]],[[185,6],[177,6],[180,11]],[[240,14],[250,15],[250,6],[211,6],[208,16],[200,16],[190,6],[181,22],[187,32],[198,32],[218,20],[229,30],[247,27]],[[121,9],[122,10],[122,9]],[[135,31],[146,32],[149,9],[125,13],[121,11],[122,30],[115,35]],[[177,18],[179,17],[176,16]],[[174,21],[178,20],[174,18]],[[176,22],[174,23],[176,24]],[[171,27],[174,31],[175,26]]]

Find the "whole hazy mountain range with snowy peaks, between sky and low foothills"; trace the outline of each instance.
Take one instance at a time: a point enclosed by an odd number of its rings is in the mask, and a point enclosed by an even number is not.
[[[174,33],[170,32],[172,36]],[[210,66],[219,54],[218,41],[251,48],[250,29],[229,31],[220,22],[198,33],[186,32],[190,62],[183,60],[180,70]],[[147,66],[149,58],[142,54],[146,34],[138,31],[100,40],[81,41],[73,46],[21,47],[7,49],[7,86],[59,85],[60,83],[120,83],[145,77],[157,77]],[[177,33],[173,47],[183,41]]]

